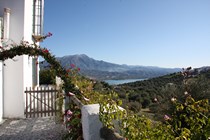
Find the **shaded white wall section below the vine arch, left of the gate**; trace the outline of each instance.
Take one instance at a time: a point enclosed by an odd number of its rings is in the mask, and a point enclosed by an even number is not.
[[[4,66],[4,117],[24,117],[23,57],[6,60]],[[13,69],[12,69],[13,68]]]

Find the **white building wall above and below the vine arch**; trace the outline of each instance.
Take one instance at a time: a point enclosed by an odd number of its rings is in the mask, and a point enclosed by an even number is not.
[[[32,42],[33,0],[0,0],[0,13],[10,8],[10,39],[15,43],[21,40]],[[32,86],[32,62],[27,55],[6,60],[4,69],[4,117],[23,118],[26,87]]]

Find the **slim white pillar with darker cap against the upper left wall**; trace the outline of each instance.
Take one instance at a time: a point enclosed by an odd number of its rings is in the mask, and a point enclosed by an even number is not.
[[[9,8],[4,8],[4,39],[9,39],[10,12]]]

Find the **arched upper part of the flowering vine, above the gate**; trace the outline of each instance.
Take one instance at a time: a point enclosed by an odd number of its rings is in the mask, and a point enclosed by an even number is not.
[[[52,34],[48,33],[39,40],[46,39]],[[9,44],[7,46],[0,46],[0,60],[5,61],[7,59],[13,59],[15,56],[29,55],[32,57],[43,57],[49,64],[52,69],[55,70],[55,73],[63,81],[63,89],[65,93],[72,91],[78,93],[78,90],[75,89],[75,86],[71,83],[68,71],[63,68],[60,63],[56,60],[55,56],[52,55],[47,48],[42,48],[36,44],[36,42],[30,44],[27,41],[21,41],[20,44]],[[38,63],[38,62],[37,62]]]

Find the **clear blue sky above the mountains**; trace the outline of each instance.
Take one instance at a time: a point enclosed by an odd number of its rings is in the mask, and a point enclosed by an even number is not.
[[[116,64],[210,66],[210,0],[45,0],[41,46]]]

